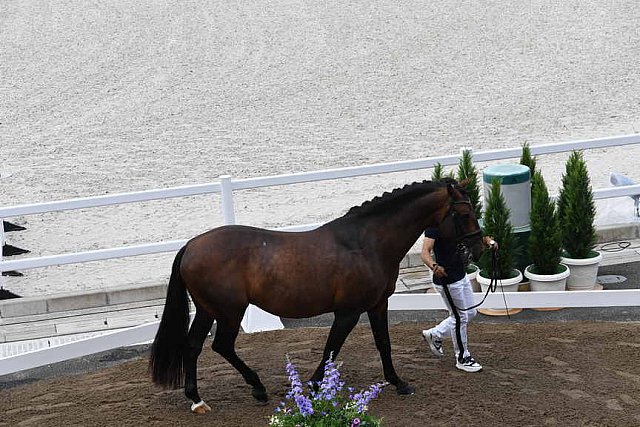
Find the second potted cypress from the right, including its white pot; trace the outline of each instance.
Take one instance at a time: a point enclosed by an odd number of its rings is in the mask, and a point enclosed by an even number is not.
[[[532,291],[564,291],[570,270],[560,263],[562,236],[553,199],[542,177],[536,171],[531,181],[531,234],[527,249],[532,264],[524,276]]]

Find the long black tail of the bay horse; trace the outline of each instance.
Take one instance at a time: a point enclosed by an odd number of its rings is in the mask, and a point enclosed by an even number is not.
[[[189,300],[180,275],[180,261],[185,248],[173,260],[167,300],[149,359],[153,382],[165,388],[178,388],[184,379],[182,359],[189,331]]]

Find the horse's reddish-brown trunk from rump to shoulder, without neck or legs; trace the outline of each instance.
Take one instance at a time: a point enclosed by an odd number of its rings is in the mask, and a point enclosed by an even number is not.
[[[188,243],[181,267],[203,305],[252,303],[280,316],[308,317],[380,297],[371,263],[326,229],[219,227]]]

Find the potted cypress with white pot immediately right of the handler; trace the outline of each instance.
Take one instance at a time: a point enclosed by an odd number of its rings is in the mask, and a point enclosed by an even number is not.
[[[494,178],[484,211],[484,234],[492,236],[498,242],[499,250],[495,266],[492,251],[486,250],[480,257],[477,280],[483,291],[487,290],[492,278],[496,278],[498,287],[507,292],[517,291],[522,280],[522,273],[516,268],[520,248],[513,234],[509,214],[507,203],[500,192],[500,180]]]

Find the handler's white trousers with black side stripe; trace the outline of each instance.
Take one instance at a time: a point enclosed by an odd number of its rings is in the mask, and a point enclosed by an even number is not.
[[[444,287],[436,285],[436,290],[440,296],[442,296],[442,299],[449,310],[449,317],[440,322],[431,331],[440,339],[450,336],[453,340],[453,348],[455,350],[456,357],[458,357],[460,353],[460,347],[464,349],[462,356],[467,357],[470,356],[469,348],[467,346],[467,325],[471,319],[476,316],[477,310],[475,308],[466,311],[459,309],[464,309],[474,305],[471,281],[469,280],[469,277],[465,275],[457,282],[447,285],[447,288],[455,307],[451,306],[449,296],[447,296]],[[459,328],[456,327],[458,324],[457,318],[460,319]]]

